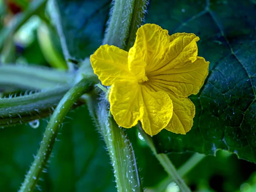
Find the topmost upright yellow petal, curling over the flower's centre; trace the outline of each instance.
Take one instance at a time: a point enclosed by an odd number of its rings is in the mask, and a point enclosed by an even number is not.
[[[168,31],[156,24],[145,24],[136,33],[134,46],[128,53],[128,64],[131,73],[143,79],[150,68],[157,65],[169,47]]]

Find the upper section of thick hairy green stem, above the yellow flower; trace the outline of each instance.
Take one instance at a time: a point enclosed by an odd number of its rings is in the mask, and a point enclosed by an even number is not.
[[[137,29],[140,27],[147,0],[115,0],[103,44],[115,45],[121,49],[131,47]]]

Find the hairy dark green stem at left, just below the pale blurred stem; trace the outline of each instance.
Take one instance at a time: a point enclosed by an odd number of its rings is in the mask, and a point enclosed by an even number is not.
[[[41,119],[52,112],[70,86],[57,87],[23,96],[0,98],[0,127]]]

